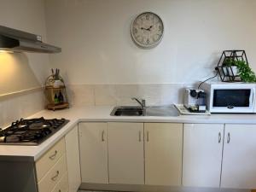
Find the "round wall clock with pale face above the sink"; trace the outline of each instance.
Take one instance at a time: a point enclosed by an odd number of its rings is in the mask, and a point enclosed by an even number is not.
[[[131,38],[142,48],[153,48],[160,43],[163,34],[163,21],[151,12],[138,15],[131,25]]]

